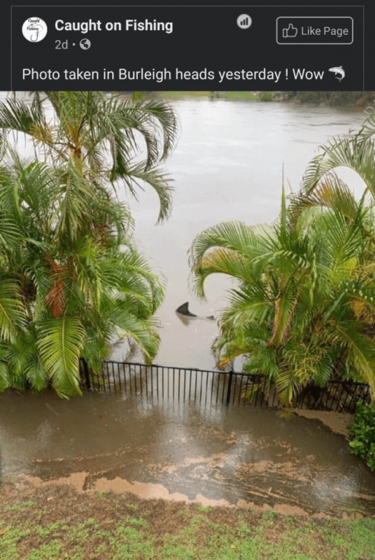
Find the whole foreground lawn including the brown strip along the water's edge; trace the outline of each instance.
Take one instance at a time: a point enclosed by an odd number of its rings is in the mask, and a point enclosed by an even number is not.
[[[374,519],[318,519],[3,483],[1,560],[358,560]]]

